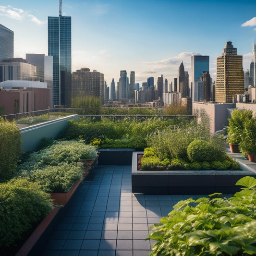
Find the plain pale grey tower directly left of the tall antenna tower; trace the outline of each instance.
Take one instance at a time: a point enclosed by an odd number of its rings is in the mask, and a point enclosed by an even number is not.
[[[46,82],[50,91],[50,107],[53,108],[52,79],[53,57],[44,54],[26,53],[26,60],[37,67],[37,73],[42,73],[43,81]]]

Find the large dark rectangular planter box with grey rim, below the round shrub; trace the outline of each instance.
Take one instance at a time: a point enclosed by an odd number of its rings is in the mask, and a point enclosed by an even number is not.
[[[241,171],[138,171],[137,154],[133,152],[132,191],[144,194],[233,194],[240,190],[235,183],[244,176],[256,178],[256,172],[242,164]],[[249,163],[249,161],[247,161]]]

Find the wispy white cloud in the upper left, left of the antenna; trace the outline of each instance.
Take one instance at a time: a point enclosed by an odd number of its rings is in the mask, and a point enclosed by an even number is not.
[[[11,5],[0,5],[0,15],[20,21],[28,19],[32,22],[35,22],[38,25],[46,24],[46,21],[40,21],[39,19],[37,19],[36,16],[32,15],[29,11],[24,11],[23,9],[12,7]]]

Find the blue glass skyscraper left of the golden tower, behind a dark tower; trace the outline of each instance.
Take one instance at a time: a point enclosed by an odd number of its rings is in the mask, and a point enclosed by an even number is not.
[[[194,55],[191,56],[191,82],[190,96],[193,94],[194,82],[199,82],[203,72],[209,72],[209,56]]]

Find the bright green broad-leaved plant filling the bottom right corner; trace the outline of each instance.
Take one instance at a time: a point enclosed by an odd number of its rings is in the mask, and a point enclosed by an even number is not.
[[[150,256],[256,255],[256,179],[246,176],[231,198],[215,193],[178,202],[150,229]],[[146,239],[146,240],[147,240]]]

